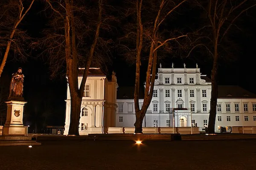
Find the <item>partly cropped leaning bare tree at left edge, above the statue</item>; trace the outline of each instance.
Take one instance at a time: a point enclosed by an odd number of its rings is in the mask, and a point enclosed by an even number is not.
[[[20,31],[18,26],[31,9],[35,0],[28,0],[28,2],[25,1],[26,0],[1,0],[0,48],[5,48],[5,53],[0,65],[0,77],[6,64],[12,43],[14,43],[14,51],[17,51],[17,53],[24,57],[22,42],[28,40],[29,37],[24,31]]]

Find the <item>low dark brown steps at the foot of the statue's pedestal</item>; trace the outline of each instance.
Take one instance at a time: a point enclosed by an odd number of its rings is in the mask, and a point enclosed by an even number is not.
[[[31,136],[0,136],[0,146],[29,146],[41,145],[41,143],[32,140]]]

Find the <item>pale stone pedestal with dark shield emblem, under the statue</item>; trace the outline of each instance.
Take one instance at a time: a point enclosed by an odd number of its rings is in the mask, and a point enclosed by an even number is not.
[[[3,126],[3,136],[26,136],[27,130],[23,125],[23,107],[25,101],[11,100],[7,104],[6,123]]]

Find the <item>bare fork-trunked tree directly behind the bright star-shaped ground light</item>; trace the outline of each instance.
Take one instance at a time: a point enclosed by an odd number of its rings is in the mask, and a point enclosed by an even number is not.
[[[136,18],[134,23],[129,23],[127,26],[127,33],[123,38],[132,40],[131,47],[122,45],[128,49],[128,59],[136,60],[136,75],[135,75],[135,89],[134,89],[134,103],[136,112],[135,133],[142,133],[142,124],[145,113],[150,105],[155,74],[157,69],[157,60],[159,59],[157,51],[161,48],[167,51],[173,51],[175,47],[179,47],[182,43],[179,42],[187,37],[181,31],[169,31],[165,24],[166,21],[172,18],[177,12],[177,8],[183,5],[187,0],[137,0],[130,2],[130,7],[126,10],[126,17]],[[135,8],[134,8],[135,6]],[[136,9],[134,11],[134,9]],[[135,28],[135,29],[134,29]],[[169,37],[169,38],[166,38]],[[132,45],[136,44],[136,45]],[[133,56],[136,56],[134,59]],[[139,90],[140,90],[140,76],[141,67],[145,64],[146,79],[143,105],[139,106]]]

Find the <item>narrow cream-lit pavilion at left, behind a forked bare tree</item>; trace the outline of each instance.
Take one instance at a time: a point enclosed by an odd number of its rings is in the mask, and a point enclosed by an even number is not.
[[[84,68],[79,68],[78,82],[81,84]],[[116,124],[116,91],[118,85],[115,73],[107,79],[100,68],[90,68],[84,87],[81,104],[79,134],[104,133],[104,127]],[[66,117],[64,135],[70,125],[70,89],[67,86]]]

